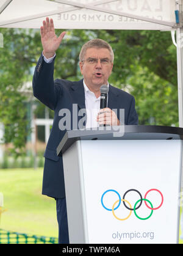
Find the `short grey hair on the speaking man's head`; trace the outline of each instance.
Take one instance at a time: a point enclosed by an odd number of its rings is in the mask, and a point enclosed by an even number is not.
[[[96,38],[96,39],[91,39],[90,41],[88,41],[87,43],[85,43],[82,48],[81,48],[81,52],[79,54],[79,61],[82,62],[82,60],[84,60],[84,56],[85,53],[87,51],[88,48],[106,48],[109,49],[110,52],[110,56],[113,62],[114,59],[114,54],[113,54],[113,50],[112,47],[109,45],[109,43],[107,43],[106,41]]]

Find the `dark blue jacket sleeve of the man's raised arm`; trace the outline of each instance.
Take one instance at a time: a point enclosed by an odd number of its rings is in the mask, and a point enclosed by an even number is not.
[[[32,80],[33,94],[48,108],[54,110],[62,94],[62,88],[54,84],[54,60],[46,63],[40,56]]]

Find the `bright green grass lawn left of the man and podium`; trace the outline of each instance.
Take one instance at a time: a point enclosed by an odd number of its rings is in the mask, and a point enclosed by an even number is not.
[[[0,169],[4,209],[0,229],[28,235],[58,236],[56,201],[41,195],[43,170]]]

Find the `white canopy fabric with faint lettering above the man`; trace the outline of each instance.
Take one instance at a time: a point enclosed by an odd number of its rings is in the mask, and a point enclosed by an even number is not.
[[[57,29],[171,30],[174,10],[175,0],[0,0],[0,27],[40,28],[49,16]]]

